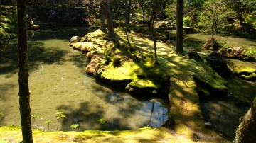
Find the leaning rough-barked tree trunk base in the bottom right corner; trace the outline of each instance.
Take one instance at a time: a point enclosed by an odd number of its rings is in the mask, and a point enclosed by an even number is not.
[[[256,97],[252,107],[242,117],[242,122],[235,132],[234,143],[255,142],[256,140]]]

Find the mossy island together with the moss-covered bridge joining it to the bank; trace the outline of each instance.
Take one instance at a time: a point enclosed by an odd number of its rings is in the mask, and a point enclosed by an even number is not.
[[[127,81],[127,92],[137,96],[169,96],[169,120],[175,123],[166,126],[176,139],[184,139],[183,142],[229,142],[218,132],[204,127],[198,96],[198,90],[202,89],[195,81],[200,81],[207,88],[203,89],[208,92],[206,96],[210,96],[213,91],[228,90],[227,82],[221,76],[206,63],[189,59],[190,48],[175,52],[173,45],[156,42],[159,64],[155,64],[154,42],[146,35],[131,30],[128,33],[129,47],[122,28],[117,28],[114,33],[109,38],[107,33],[97,30],[87,34],[82,42],[70,45],[75,50],[87,52],[87,57],[90,55],[87,73],[100,76],[112,86],[122,87],[124,84],[114,83]],[[106,57],[119,57],[121,64],[118,67],[113,62],[105,64]]]

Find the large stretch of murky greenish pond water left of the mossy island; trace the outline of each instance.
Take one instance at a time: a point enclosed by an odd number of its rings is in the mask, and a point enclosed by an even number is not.
[[[29,88],[33,128],[46,131],[134,130],[160,127],[167,120],[168,100],[136,98],[111,88],[85,73],[88,60],[68,47],[73,35],[86,27],[59,27],[28,31]],[[21,125],[18,106],[17,39],[0,51],[0,125]],[[142,96],[142,95],[140,95]],[[144,95],[143,95],[144,96]],[[56,111],[66,118],[56,119]],[[104,123],[98,120],[104,119]],[[46,123],[51,120],[52,123]]]

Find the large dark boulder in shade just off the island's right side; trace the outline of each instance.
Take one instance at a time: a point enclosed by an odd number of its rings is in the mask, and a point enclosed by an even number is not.
[[[232,72],[225,62],[225,59],[218,55],[217,52],[213,51],[208,57],[206,57],[207,62],[210,64],[215,71],[220,75],[230,75]]]

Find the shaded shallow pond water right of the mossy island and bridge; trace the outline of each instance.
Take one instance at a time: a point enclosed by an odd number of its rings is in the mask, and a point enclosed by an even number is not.
[[[196,50],[199,52],[211,52],[201,46],[206,40],[210,39],[210,35],[188,34],[185,35],[185,38],[194,40],[195,43],[191,43],[191,45],[196,44],[198,47]],[[230,47],[251,47],[253,50],[256,50],[256,40],[229,35],[215,35],[215,38],[228,43]],[[230,69],[233,69],[235,64],[247,65],[256,69],[255,62],[245,62],[238,59],[225,60]],[[234,76],[230,76],[226,80],[228,81],[228,91],[233,94],[233,96],[243,96],[252,103],[256,93],[256,82],[245,81]],[[233,100],[223,98],[210,98],[201,101],[201,110],[205,121],[211,122],[212,125],[226,132],[230,137],[235,137],[235,131],[239,125],[239,118],[245,115],[248,109],[249,108],[238,108],[235,106]]]

